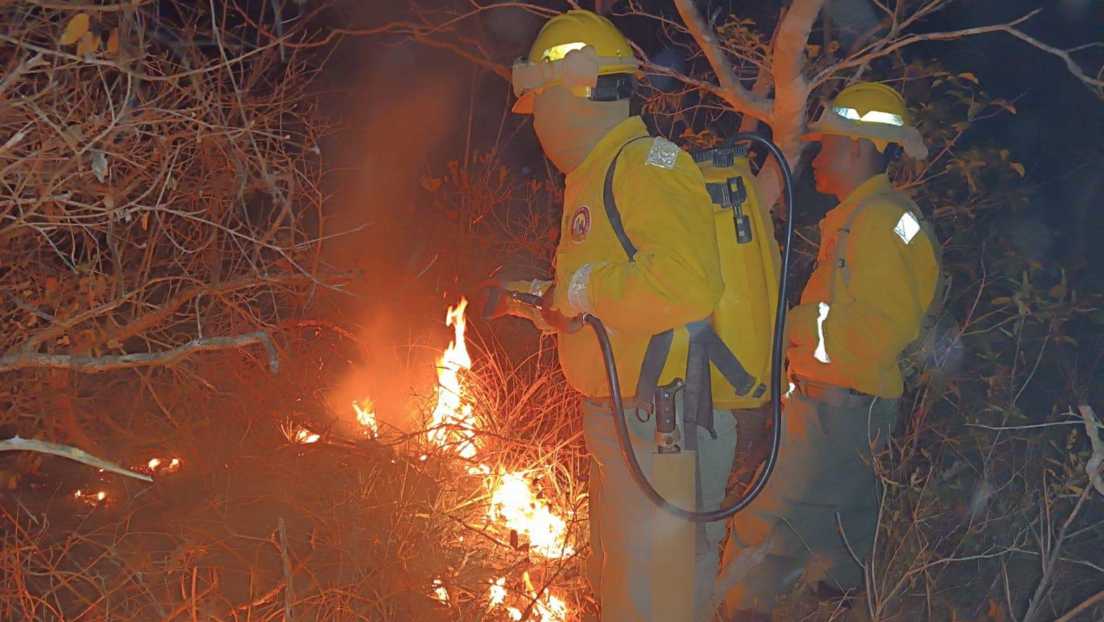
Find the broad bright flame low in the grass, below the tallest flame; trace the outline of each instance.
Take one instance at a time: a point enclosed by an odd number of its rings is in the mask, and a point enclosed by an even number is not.
[[[529,537],[530,549],[550,559],[560,559],[575,551],[566,545],[567,525],[563,518],[533,495],[529,482],[517,473],[507,473],[491,493],[491,520],[501,518],[507,527]]]

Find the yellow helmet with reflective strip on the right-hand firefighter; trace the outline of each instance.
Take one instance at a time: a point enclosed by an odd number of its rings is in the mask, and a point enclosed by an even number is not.
[[[916,159],[927,157],[927,147],[912,125],[904,97],[892,87],[861,82],[839,92],[802,140],[820,140],[825,135],[866,138],[879,151],[895,143]]]

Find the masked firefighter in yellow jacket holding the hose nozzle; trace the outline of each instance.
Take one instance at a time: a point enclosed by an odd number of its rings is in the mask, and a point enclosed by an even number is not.
[[[559,331],[564,373],[586,398],[583,426],[592,455],[587,574],[602,619],[611,622],[650,619],[652,507],[620,455],[598,342],[592,331],[578,330],[577,318],[591,313],[606,324],[620,384],[631,388],[649,338],[709,317],[724,288],[712,200],[701,172],[687,152],[651,137],[644,122],[629,115],[639,75],[624,35],[605,18],[578,10],[550,20],[529,57],[516,64],[513,109],[533,115],[541,146],[566,181],[553,280],[499,283],[543,295],[545,310],[532,319]],[[636,246],[631,260],[606,211],[611,170],[608,199]],[[520,307],[502,312],[528,315]],[[676,330],[659,382],[681,377],[686,362],[687,333]],[[649,473],[655,423],[637,405],[643,404],[626,397],[634,449]],[[699,434],[701,503],[709,509],[723,500],[735,452],[731,411],[714,415],[716,437]],[[723,530],[722,524],[709,527],[698,557],[701,609],[716,576]]]

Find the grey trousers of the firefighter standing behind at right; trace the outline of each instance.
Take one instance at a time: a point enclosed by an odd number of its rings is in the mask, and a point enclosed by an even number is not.
[[[763,561],[728,594],[730,612],[769,612],[798,581],[842,590],[862,584],[854,557],[870,555],[878,520],[871,447],[884,446],[896,417],[898,400],[809,381],[798,386],[783,414],[774,474],[732,523],[725,565],[745,548],[769,544]]]

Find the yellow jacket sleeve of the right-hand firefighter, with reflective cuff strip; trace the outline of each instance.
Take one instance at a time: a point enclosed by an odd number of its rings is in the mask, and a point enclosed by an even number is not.
[[[923,234],[905,242],[894,231],[901,217],[899,209],[878,209],[860,218],[848,242],[853,256],[848,295],[837,295],[827,308],[813,304],[795,309],[803,326],[792,337],[822,336],[818,358],[847,367],[890,365],[920,334],[931,295],[924,299],[920,291],[917,250],[910,245],[930,250],[930,242]],[[806,306],[818,308],[802,308]],[[806,326],[810,320],[813,326]]]

